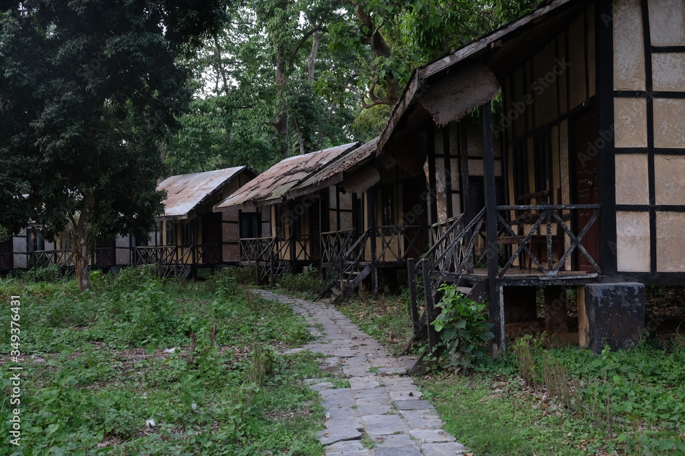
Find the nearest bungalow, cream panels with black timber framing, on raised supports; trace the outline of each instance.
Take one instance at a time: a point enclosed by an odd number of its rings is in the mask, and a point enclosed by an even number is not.
[[[684,29],[681,0],[552,0],[414,72],[378,148],[427,176],[429,317],[484,291],[497,352],[575,288],[582,345],[636,340],[643,284],[685,279]]]

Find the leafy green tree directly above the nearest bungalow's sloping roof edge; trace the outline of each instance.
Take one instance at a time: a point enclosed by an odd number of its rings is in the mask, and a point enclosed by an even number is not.
[[[358,52],[365,109],[392,107],[414,68],[517,18],[540,0],[345,0],[356,21],[331,27],[332,43]]]

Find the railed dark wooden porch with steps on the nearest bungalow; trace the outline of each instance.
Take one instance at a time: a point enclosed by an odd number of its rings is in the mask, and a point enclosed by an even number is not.
[[[505,319],[510,323],[506,289],[583,286],[602,274],[598,258],[587,248],[588,233],[599,224],[599,204],[497,205],[493,209],[488,214],[483,208],[471,219],[462,214],[433,224],[432,247],[420,260],[408,262],[414,330],[417,336],[427,336],[431,347],[437,343],[429,323],[438,313],[440,284],[454,284],[476,300],[489,297],[490,321],[495,324],[497,349],[502,349]],[[521,212],[526,217],[517,215]],[[423,314],[416,294],[419,278],[425,292]],[[530,303],[516,303],[519,310],[530,306],[534,316],[534,291]]]

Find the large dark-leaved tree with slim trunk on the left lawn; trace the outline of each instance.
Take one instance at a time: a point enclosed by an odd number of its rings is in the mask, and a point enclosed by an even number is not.
[[[160,144],[190,101],[177,64],[216,33],[221,0],[0,0],[0,225],[147,237],[162,212]]]

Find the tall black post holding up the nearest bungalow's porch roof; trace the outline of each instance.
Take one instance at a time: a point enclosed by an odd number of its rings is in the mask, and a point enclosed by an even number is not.
[[[495,144],[493,143],[493,108],[490,102],[483,109],[484,183],[488,240],[488,285],[490,292],[490,323],[493,323],[493,356],[504,351],[504,305],[502,288],[497,280],[499,245],[497,244],[497,191],[495,189]]]

